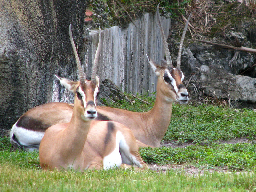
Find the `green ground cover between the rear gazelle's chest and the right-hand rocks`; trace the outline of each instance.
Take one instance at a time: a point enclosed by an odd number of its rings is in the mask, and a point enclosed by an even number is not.
[[[174,105],[164,140],[211,144],[217,140],[256,138],[256,113],[249,109]]]

